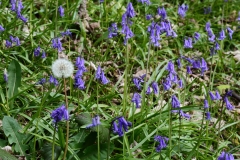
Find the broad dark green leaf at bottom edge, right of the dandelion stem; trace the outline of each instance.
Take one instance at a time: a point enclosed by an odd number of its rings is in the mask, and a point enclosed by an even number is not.
[[[106,159],[107,158],[107,151],[109,148],[109,155],[113,151],[113,144],[110,144],[108,147],[108,144],[101,144],[100,145],[100,159]],[[84,154],[80,157],[84,160],[97,160],[98,159],[98,146],[97,144],[91,145],[87,147],[84,151]]]

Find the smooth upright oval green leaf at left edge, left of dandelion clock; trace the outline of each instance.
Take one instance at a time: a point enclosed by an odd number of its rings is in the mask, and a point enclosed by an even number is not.
[[[8,99],[11,99],[18,93],[18,87],[21,85],[21,66],[16,60],[12,60],[8,67]]]

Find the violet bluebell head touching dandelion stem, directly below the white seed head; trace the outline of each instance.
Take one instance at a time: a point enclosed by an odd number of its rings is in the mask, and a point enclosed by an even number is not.
[[[51,113],[51,117],[53,119],[53,123],[56,125],[60,122],[63,118],[65,120],[69,120],[68,110],[64,105],[60,106],[59,108],[55,109]]]

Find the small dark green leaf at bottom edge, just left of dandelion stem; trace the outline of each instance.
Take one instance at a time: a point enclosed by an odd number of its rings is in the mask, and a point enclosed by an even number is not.
[[[55,145],[54,146],[54,159],[57,160],[61,155],[61,147]],[[41,155],[43,159],[52,159],[52,144],[45,143],[41,149]]]

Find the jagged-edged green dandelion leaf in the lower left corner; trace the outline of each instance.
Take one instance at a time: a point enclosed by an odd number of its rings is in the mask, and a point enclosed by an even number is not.
[[[14,118],[8,116],[4,116],[2,123],[3,131],[8,137],[9,143],[15,143],[15,151],[19,152],[20,155],[25,155],[25,151],[27,150],[28,146],[23,144],[25,135],[19,132],[22,130],[20,124]]]

